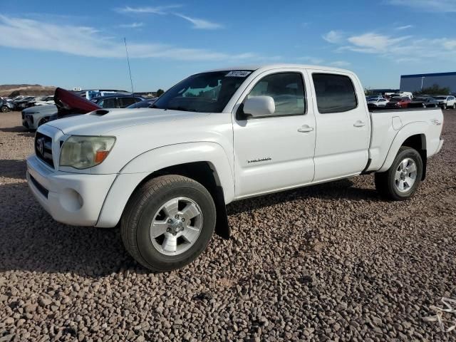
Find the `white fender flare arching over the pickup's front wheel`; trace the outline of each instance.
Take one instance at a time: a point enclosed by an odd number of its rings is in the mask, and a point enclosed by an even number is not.
[[[153,172],[186,164],[208,162],[217,185],[222,188],[225,204],[234,199],[232,165],[223,147],[217,142],[185,142],[157,147],[143,152],[128,162],[115,178],[95,227],[115,227],[136,187]]]

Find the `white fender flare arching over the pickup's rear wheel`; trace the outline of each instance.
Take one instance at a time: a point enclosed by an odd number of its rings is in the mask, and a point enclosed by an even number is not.
[[[383,162],[382,167],[377,172],[384,172],[388,170],[391,165],[393,165],[393,161],[398,155],[399,148],[403,145],[405,140],[410,138],[412,135],[424,135],[425,139],[424,142],[422,142],[422,148],[425,150],[426,149],[426,131],[429,127],[429,124],[426,123],[425,121],[418,121],[415,123],[408,123],[407,125],[403,126],[403,128],[400,128],[398,130],[398,133],[395,135],[393,142],[390,145],[390,149],[388,150],[388,154],[386,155],[385,161]]]

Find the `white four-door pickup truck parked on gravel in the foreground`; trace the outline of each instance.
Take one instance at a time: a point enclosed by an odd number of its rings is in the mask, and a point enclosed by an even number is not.
[[[370,112],[351,71],[301,65],[197,73],[154,108],[95,110],[40,126],[27,180],[58,222],[120,225],[128,252],[154,271],[190,263],[225,204],[375,172],[408,199],[443,140],[442,110]]]

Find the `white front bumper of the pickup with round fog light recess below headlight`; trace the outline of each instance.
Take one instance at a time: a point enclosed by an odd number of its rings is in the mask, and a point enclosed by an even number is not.
[[[54,171],[36,155],[27,158],[27,182],[53,219],[75,226],[94,226],[117,175]]]

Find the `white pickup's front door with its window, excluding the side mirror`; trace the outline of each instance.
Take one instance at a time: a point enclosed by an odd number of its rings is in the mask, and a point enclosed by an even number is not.
[[[236,197],[305,185],[314,178],[316,126],[306,97],[309,79],[299,69],[266,72],[241,98],[274,98],[273,116],[234,118]]]

